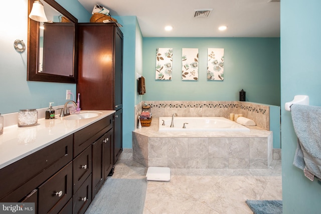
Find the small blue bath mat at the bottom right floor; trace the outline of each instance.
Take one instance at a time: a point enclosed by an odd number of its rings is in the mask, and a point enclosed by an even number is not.
[[[282,200],[246,200],[254,214],[282,214]]]

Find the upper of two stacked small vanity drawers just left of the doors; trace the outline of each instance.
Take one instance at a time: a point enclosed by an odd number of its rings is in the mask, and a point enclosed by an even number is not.
[[[91,146],[81,152],[73,161],[73,193],[91,173]]]

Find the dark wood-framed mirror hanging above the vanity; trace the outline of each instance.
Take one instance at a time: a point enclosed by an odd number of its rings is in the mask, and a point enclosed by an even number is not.
[[[76,83],[78,20],[54,0],[42,0],[48,22],[28,18],[27,80]],[[28,15],[34,0],[28,0]]]

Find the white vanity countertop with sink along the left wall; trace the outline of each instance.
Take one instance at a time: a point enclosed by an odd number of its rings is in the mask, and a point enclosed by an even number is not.
[[[102,112],[101,115],[88,119],[65,120],[56,116],[55,119],[38,119],[36,126],[18,127],[16,124],[5,127],[4,133],[0,135],[0,169],[113,114],[115,111],[103,110],[100,112]]]

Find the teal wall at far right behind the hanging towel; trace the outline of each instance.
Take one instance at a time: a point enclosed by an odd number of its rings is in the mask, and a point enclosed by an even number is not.
[[[293,166],[296,149],[291,114],[284,104],[308,95],[321,106],[321,2],[281,1],[281,117],[283,213],[320,213],[321,185]],[[316,115],[319,117],[319,115]]]

